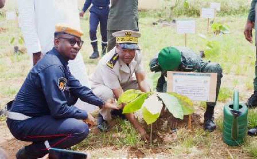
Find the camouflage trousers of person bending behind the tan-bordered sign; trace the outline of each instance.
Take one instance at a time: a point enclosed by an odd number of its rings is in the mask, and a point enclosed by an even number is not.
[[[218,63],[215,62],[202,62],[201,69],[196,70],[195,72],[205,72],[205,73],[217,73],[217,88],[216,88],[216,100],[215,102],[206,102],[207,105],[214,107],[217,104],[219,89],[221,85],[222,78],[222,68]],[[159,78],[156,86],[157,92],[166,92],[167,91],[167,82],[165,81],[164,74],[167,72],[163,72],[161,77]]]

